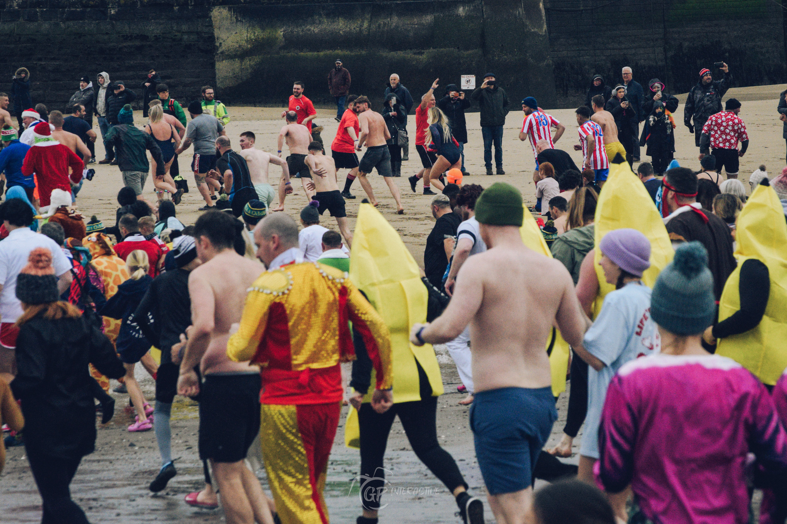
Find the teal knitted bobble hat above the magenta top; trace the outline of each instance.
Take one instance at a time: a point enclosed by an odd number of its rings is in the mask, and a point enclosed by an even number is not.
[[[650,313],[656,324],[675,335],[699,335],[713,324],[713,275],[702,244],[695,241],[678,246],[653,286]]]

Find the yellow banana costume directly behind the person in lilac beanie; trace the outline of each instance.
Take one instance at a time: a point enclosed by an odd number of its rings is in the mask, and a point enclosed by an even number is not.
[[[604,235],[613,229],[637,229],[650,240],[650,268],[642,275],[642,281],[649,288],[656,284],[656,277],[672,261],[674,249],[663,218],[645,185],[634,174],[629,164],[610,163],[609,178],[601,189],[596,206],[596,247],[594,266],[598,277],[598,296],[593,305],[594,316],[601,310],[604,297],[615,291],[613,284],[607,284],[604,270],[601,269],[601,250],[598,245]]]

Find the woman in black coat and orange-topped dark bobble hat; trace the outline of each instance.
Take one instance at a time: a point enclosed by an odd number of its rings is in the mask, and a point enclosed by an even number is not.
[[[125,369],[109,339],[76,306],[61,302],[52,253],[36,247],[17,277],[24,313],[11,383],[24,413],[24,447],[43,501],[41,522],[87,523],[68,486],[96,440],[94,379],[88,363],[112,379]]]

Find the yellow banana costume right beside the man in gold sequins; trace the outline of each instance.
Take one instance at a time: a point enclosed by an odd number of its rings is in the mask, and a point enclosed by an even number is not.
[[[418,361],[427,373],[432,395],[443,393],[440,365],[430,344],[410,343],[410,328],[427,319],[427,288],[421,273],[399,233],[368,203],[360,204],[350,250],[350,280],[364,291],[390,331],[393,358],[393,401],[410,402],[421,398]],[[371,383],[375,383],[372,372]],[[371,400],[370,388],[364,402]],[[357,412],[350,409],[345,424],[345,444],[357,447]]]

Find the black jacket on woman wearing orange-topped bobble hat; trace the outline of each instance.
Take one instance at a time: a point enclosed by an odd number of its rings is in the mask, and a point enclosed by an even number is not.
[[[93,453],[95,382],[88,362],[110,379],[126,374],[112,343],[86,317],[47,321],[39,313],[21,325],[11,390],[22,401],[24,445],[64,459]]]

